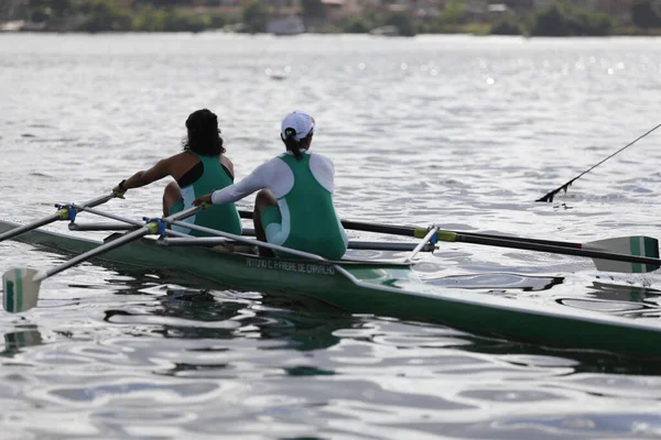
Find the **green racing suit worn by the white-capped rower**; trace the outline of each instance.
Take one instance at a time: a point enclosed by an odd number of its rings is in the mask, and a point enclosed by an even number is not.
[[[339,260],[346,252],[344,231],[333,206],[333,194],[317,182],[310,169],[311,155],[304,153],[300,161],[291,154],[279,157],[294,174],[294,186],[280,204],[282,223],[289,220],[290,224],[283,245]],[[286,209],[282,209],[283,205]]]

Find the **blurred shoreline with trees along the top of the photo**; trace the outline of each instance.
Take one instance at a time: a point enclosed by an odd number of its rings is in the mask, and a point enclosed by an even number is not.
[[[573,2],[549,8],[517,9],[507,4],[456,0],[228,0],[223,7],[158,7],[132,0],[71,3],[66,8],[36,7],[0,14],[0,32],[228,32],[297,35],[418,34],[538,36],[659,36],[661,8],[641,0],[618,9],[587,9]],[[184,1],[185,3],[185,1]],[[520,2],[522,4],[522,2]],[[76,6],[74,6],[76,4]],[[225,3],[224,3],[225,4]],[[513,2],[512,4],[518,4]],[[619,3],[618,3],[619,4]],[[624,3],[622,3],[624,4]]]

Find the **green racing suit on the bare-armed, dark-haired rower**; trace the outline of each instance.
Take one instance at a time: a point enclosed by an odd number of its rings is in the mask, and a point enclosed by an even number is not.
[[[191,153],[202,162],[204,172],[192,185],[181,188],[184,199],[183,209],[193,206],[193,200],[197,197],[210,194],[216,189],[223,189],[232,184],[218,156],[203,156],[193,152]],[[241,219],[235,204],[214,205],[196,213],[192,219],[194,224],[201,227],[217,229],[237,235],[241,234]],[[193,230],[189,233],[196,237],[206,235],[204,232]]]

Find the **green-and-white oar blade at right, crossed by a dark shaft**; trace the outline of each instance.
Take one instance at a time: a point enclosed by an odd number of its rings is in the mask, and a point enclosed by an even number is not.
[[[659,240],[650,237],[619,237],[616,239],[606,239],[590,241],[583,244],[583,249],[592,251],[604,251],[618,254],[635,256],[659,257]],[[644,272],[657,271],[659,266],[642,263],[626,263],[613,260],[593,258],[599,271],[622,272],[627,274],[641,274]]]

